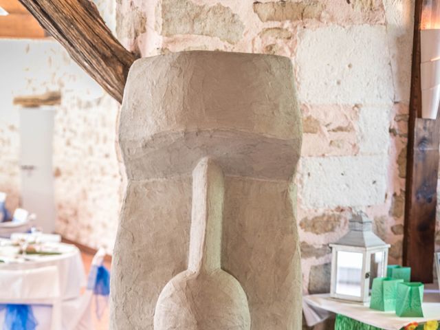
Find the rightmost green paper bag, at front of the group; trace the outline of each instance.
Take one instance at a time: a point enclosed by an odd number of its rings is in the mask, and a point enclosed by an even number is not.
[[[423,303],[424,285],[419,282],[398,283],[396,314],[400,317],[423,317],[421,303]]]

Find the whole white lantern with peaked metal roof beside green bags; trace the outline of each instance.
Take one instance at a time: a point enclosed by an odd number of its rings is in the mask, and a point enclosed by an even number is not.
[[[386,275],[390,245],[374,234],[371,220],[361,212],[349,221],[349,232],[330,246],[331,297],[368,302],[373,278]]]

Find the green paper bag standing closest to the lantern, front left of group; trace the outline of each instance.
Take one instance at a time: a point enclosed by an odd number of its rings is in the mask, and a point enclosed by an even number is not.
[[[397,284],[403,282],[404,280],[399,278],[374,278],[371,287],[370,308],[379,311],[395,311]]]

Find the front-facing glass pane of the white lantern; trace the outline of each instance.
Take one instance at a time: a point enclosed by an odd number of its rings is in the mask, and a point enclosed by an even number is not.
[[[361,296],[363,254],[338,251],[336,255],[336,294]]]

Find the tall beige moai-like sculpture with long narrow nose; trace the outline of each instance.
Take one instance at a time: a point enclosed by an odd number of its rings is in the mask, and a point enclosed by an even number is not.
[[[138,60],[119,141],[128,185],[111,329],[300,329],[301,120],[290,60]]]

